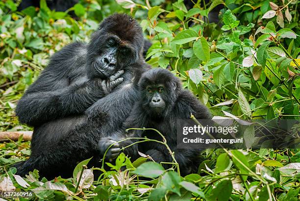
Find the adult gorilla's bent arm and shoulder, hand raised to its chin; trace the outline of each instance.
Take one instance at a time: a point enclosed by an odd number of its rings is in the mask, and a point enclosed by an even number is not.
[[[48,67],[18,102],[16,115],[21,123],[35,126],[82,113],[109,93],[110,87],[115,87],[111,84],[122,82],[118,77],[114,77],[113,82],[83,77],[86,74],[85,58],[78,50],[84,51],[84,48],[81,43],[73,43],[52,56]]]

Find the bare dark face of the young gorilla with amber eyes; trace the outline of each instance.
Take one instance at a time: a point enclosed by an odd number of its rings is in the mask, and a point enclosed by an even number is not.
[[[162,112],[166,107],[166,102],[164,100],[165,86],[164,85],[149,85],[146,87],[147,99],[149,107],[156,113]]]

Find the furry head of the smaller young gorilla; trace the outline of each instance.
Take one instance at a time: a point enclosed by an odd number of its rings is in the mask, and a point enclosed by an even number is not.
[[[141,106],[150,118],[167,117],[174,108],[180,80],[165,69],[151,69],[139,81]]]

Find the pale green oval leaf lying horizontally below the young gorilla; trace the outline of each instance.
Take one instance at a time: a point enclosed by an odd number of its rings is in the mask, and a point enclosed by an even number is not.
[[[164,173],[165,169],[158,163],[145,162],[134,171],[135,174],[146,177],[158,177]]]

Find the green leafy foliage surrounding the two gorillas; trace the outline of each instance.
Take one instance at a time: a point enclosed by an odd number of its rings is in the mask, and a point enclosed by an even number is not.
[[[51,54],[71,41],[86,40],[100,20],[116,11],[140,20],[153,43],[147,62],[174,72],[213,115],[300,120],[299,1],[194,2],[187,9],[182,0],[81,0],[69,9],[77,16],[72,18],[68,11],[51,11],[45,0],[39,9],[22,12],[14,1],[1,1],[0,131],[31,129],[13,114],[25,88]],[[209,12],[220,4],[220,23],[208,23]],[[246,142],[253,136],[249,126]],[[32,198],[42,200],[299,200],[299,150],[207,149],[198,174],[185,177],[145,162],[143,154],[136,161],[120,154],[107,164],[111,171],[85,169],[85,160],[73,178],[47,181],[36,170],[22,178],[8,169],[29,157],[29,146],[22,137],[0,144],[0,189],[32,191]]]

